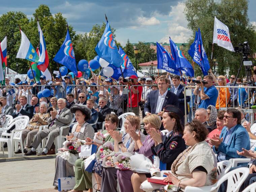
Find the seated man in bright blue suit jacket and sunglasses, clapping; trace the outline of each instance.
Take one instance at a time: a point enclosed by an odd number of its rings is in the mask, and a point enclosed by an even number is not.
[[[210,139],[213,151],[218,154],[217,160],[245,158],[236,153],[236,151],[241,152],[242,148],[250,150],[250,138],[246,129],[241,125],[240,111],[235,108],[228,108],[223,120],[224,127],[220,136],[214,135]]]

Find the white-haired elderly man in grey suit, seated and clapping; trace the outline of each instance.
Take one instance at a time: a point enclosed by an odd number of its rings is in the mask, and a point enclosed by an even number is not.
[[[43,138],[48,137],[46,141],[46,146],[43,149],[42,153],[38,155],[47,155],[49,149],[53,145],[55,137],[60,135],[60,128],[66,126],[72,121],[73,115],[70,110],[66,107],[66,100],[63,98],[58,99],[57,101],[59,110],[51,111],[51,117],[47,119],[49,124],[48,129],[43,129],[36,134],[36,138],[32,143],[32,149],[29,153],[25,155],[36,155],[36,148],[40,145]],[[62,135],[67,135],[69,129],[64,129]]]

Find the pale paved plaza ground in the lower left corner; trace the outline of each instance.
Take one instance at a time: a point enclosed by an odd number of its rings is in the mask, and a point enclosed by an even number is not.
[[[57,192],[53,187],[55,158],[1,162],[1,192]]]

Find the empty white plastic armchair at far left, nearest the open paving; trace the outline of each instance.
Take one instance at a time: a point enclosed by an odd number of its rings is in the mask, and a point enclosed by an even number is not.
[[[3,138],[0,137],[0,142],[7,142],[7,147],[8,147],[8,157],[12,157],[13,156],[13,146],[15,147],[15,151],[18,149],[18,142],[21,143],[21,148],[23,149],[23,143],[22,143],[22,130],[26,128],[28,124],[28,120],[27,119],[19,119],[15,122],[13,122],[9,127],[12,127],[15,125],[15,129],[11,131],[11,138]],[[9,127],[7,128],[2,128],[0,130],[9,130]],[[17,142],[17,145],[15,145],[15,141]],[[2,151],[3,151],[3,155],[4,155],[4,148],[2,145]],[[22,150],[22,156],[24,156],[23,150]]]

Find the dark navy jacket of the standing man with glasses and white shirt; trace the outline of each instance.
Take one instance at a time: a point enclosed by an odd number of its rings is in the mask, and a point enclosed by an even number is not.
[[[158,93],[159,90],[154,90],[151,91],[147,99],[145,101],[144,105],[144,112],[146,113],[147,111],[149,113],[155,114],[156,113],[156,105],[157,105],[157,99],[158,99]],[[165,105],[175,105],[179,107],[179,99],[178,96],[175,95],[174,93],[167,91],[166,97],[164,99],[163,106],[161,107],[161,110],[165,107]]]

